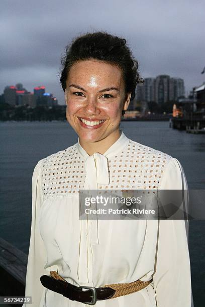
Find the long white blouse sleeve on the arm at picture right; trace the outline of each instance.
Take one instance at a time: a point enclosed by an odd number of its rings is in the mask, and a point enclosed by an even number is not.
[[[188,190],[183,169],[171,159],[161,179],[159,190],[180,190],[183,210],[188,214],[184,190]],[[178,193],[178,192],[177,192]],[[185,193],[187,195],[187,193]],[[188,251],[188,220],[159,220],[153,285],[157,307],[193,307]]]

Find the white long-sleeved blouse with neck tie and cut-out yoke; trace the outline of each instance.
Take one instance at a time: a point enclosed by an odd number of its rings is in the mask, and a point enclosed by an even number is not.
[[[39,161],[32,178],[25,293],[32,296],[32,306],[88,306],[41,284],[40,277],[55,270],[77,286],[153,278],[138,292],[97,301],[99,307],[190,307],[188,221],[79,218],[79,190],[100,189],[183,192],[187,184],[176,159],[123,132],[104,155],[89,156],[78,139]]]

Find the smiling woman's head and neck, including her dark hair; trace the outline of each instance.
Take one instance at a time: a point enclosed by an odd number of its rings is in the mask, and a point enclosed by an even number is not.
[[[62,64],[67,120],[89,155],[96,149],[105,152],[120,137],[122,115],[136,84],[143,82],[138,62],[125,39],[97,32],[68,46]]]

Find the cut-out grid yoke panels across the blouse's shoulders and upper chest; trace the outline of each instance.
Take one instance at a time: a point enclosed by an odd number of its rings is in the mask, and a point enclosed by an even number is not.
[[[171,156],[159,150],[129,140],[127,147],[108,159],[110,184],[98,185],[99,190],[155,190],[159,186],[165,165]],[[79,193],[85,182],[84,159],[77,144],[58,151],[42,163],[44,200]]]

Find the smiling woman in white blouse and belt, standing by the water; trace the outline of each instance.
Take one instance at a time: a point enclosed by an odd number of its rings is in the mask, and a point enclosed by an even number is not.
[[[176,159],[130,140],[119,129],[136,83],[142,82],[137,69],[126,41],[107,33],[81,36],[66,49],[60,81],[66,117],[79,138],[34,169],[26,279],[33,306],[191,305],[187,221],[85,220],[78,215],[79,190],[187,189]],[[47,287],[41,284],[41,276],[51,271],[63,278],[62,287],[71,284],[74,296],[49,289],[50,277]],[[132,290],[131,282],[141,282],[140,288]],[[127,289],[115,295],[116,284],[122,283]],[[110,294],[105,298],[105,289],[97,289],[96,300],[96,288],[105,285]],[[79,286],[92,287],[88,301],[78,295],[86,291]]]

